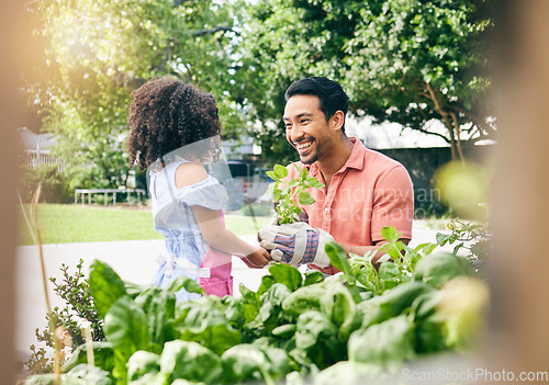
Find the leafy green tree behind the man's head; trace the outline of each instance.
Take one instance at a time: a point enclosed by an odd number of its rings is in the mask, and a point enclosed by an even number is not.
[[[244,94],[259,121],[277,124],[292,81],[326,76],[341,83],[356,116],[440,136],[462,159],[462,140],[495,131],[483,44],[492,7],[488,0],[251,2],[239,45]],[[433,129],[432,121],[446,131]],[[283,126],[274,124],[258,129],[269,138],[264,149],[281,146]]]

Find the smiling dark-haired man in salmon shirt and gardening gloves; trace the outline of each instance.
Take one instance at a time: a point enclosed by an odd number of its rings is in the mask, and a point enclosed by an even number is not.
[[[290,86],[285,100],[285,135],[300,156],[298,165],[325,186],[312,189],[316,202],[302,207],[309,225],[268,226],[259,231],[261,246],[276,260],[335,274],[338,270],[328,265],[324,251],[332,239],[347,253],[363,256],[378,251],[386,242],[381,229],[393,226],[408,244],[414,211],[410,175],[401,163],[347,137],[348,97],[341,87],[323,77],[302,79]],[[292,165],[288,171],[288,180],[298,174]]]

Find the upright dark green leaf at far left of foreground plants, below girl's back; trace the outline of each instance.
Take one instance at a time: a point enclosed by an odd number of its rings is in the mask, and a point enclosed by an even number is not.
[[[93,261],[90,267],[90,292],[101,319],[116,299],[126,295],[124,281],[107,263]]]

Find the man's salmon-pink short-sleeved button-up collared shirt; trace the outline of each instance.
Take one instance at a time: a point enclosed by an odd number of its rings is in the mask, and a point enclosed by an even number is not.
[[[372,246],[383,240],[381,229],[385,226],[395,227],[402,233],[401,238],[412,239],[414,191],[408,172],[397,161],[366,148],[360,140],[350,140],[350,157],[334,174],[328,189],[311,189],[316,202],[303,207],[309,224],[344,245]],[[324,183],[316,162],[306,167],[309,175]],[[298,177],[295,167],[290,165],[288,170],[288,178]],[[320,270],[328,274],[339,271],[332,265]]]

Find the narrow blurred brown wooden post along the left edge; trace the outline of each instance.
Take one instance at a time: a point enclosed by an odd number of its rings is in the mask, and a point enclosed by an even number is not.
[[[18,128],[25,121],[23,106],[20,100],[19,83],[21,70],[33,60],[31,55],[24,57],[23,53],[34,53],[29,39],[31,26],[27,23],[24,2],[19,0],[3,0],[0,2],[0,165],[2,169],[3,189],[0,189],[0,373],[2,384],[15,382],[14,336],[15,336],[15,307],[14,307],[14,256],[18,241],[18,214],[16,197],[18,154],[20,148]]]

